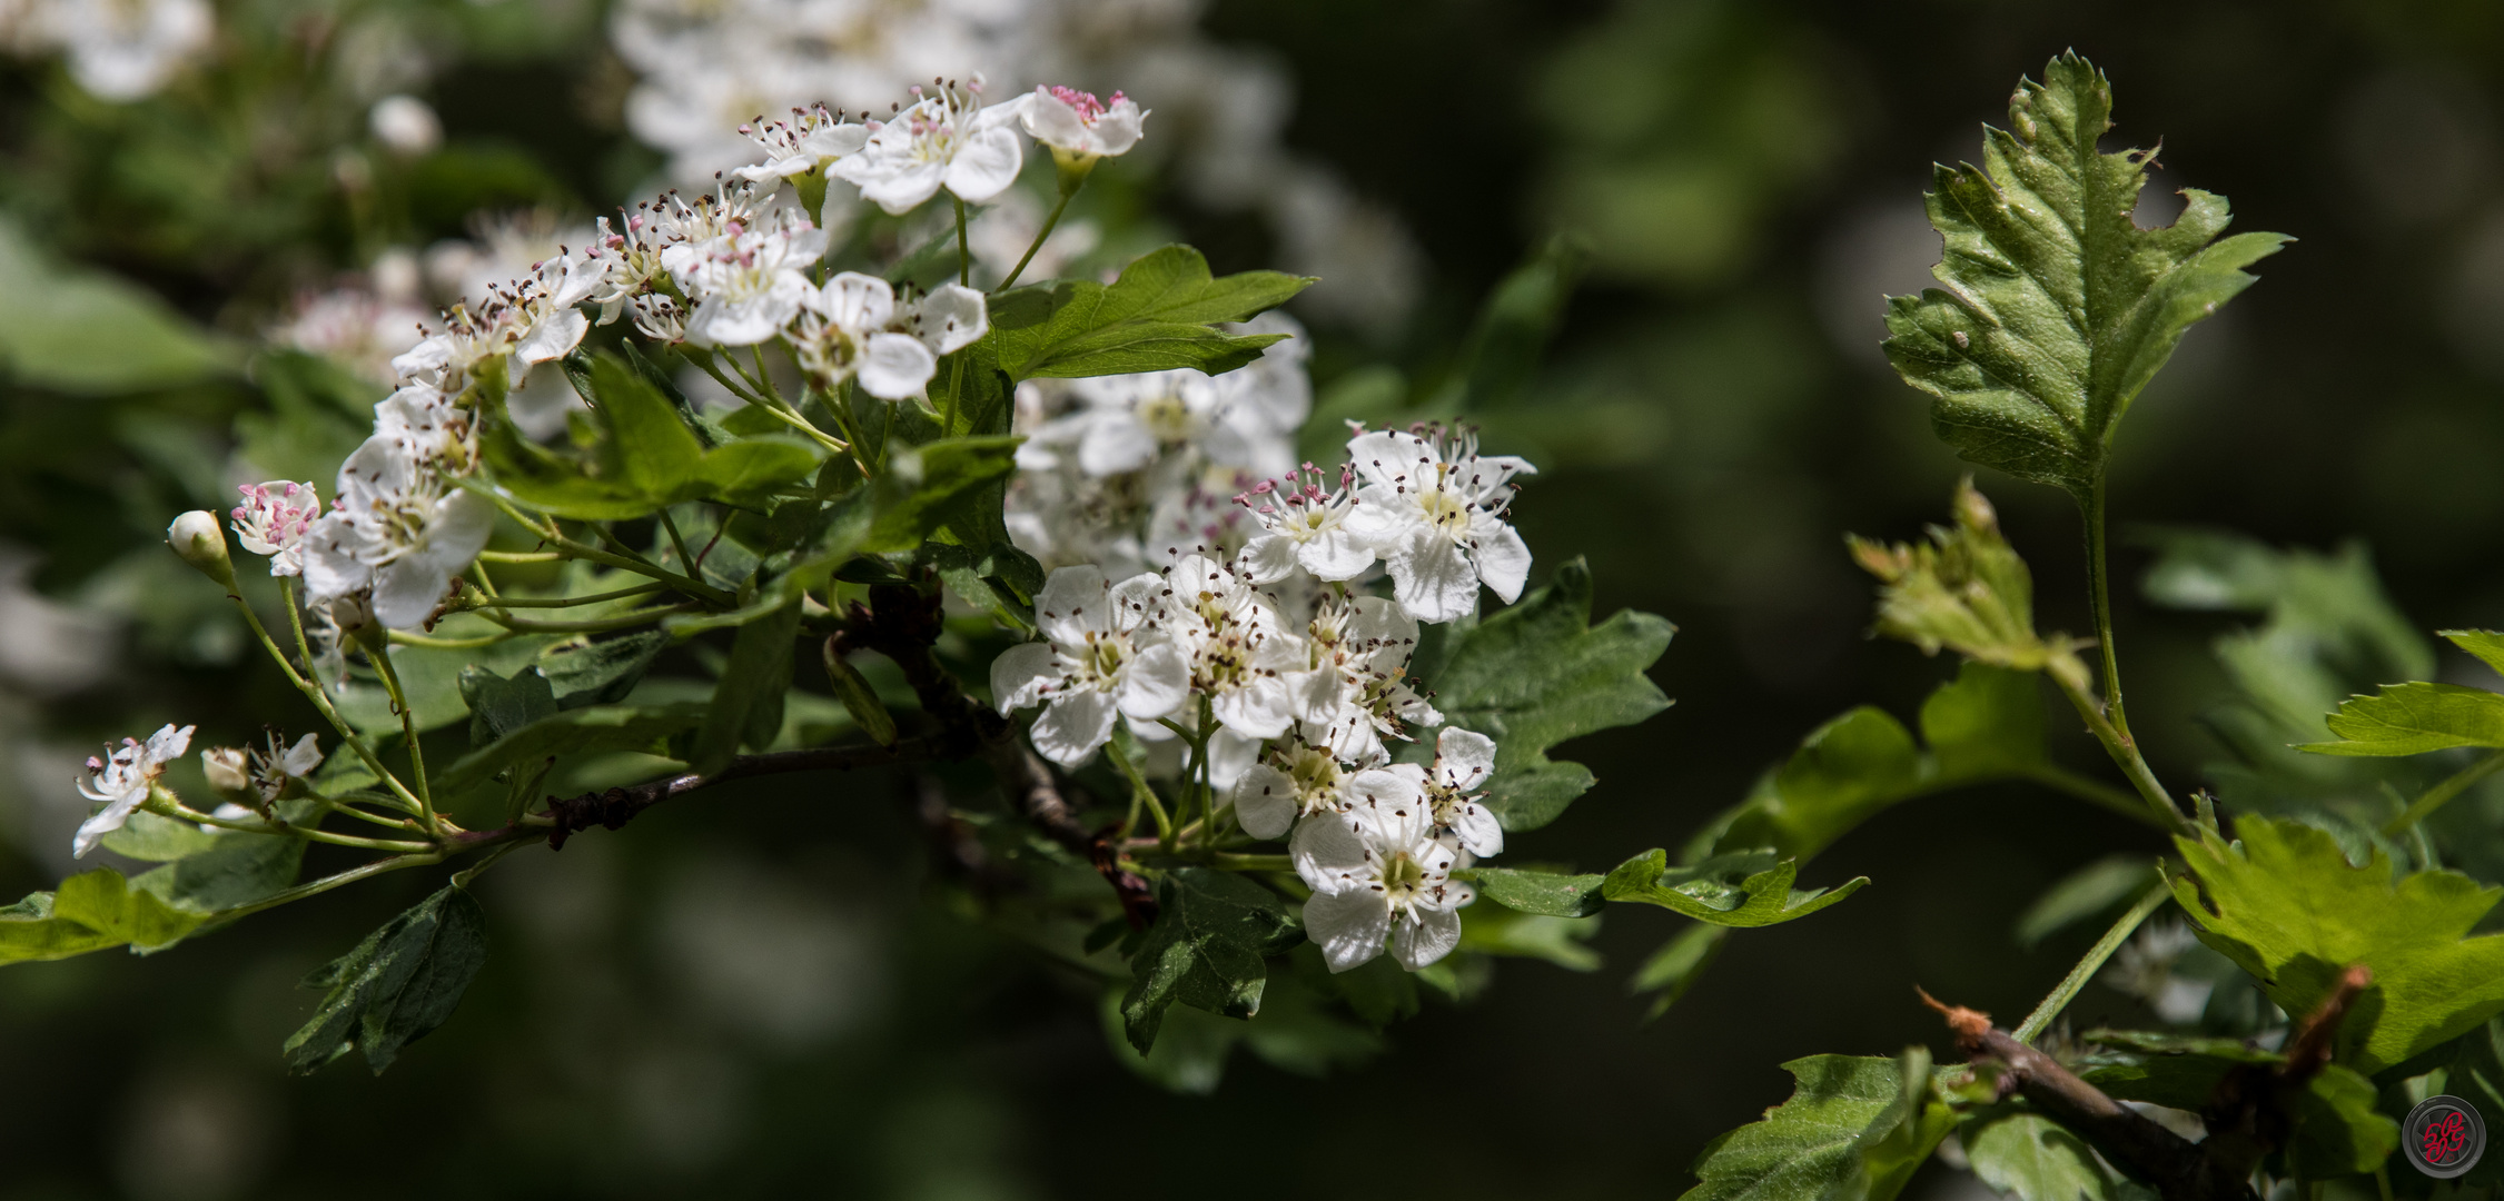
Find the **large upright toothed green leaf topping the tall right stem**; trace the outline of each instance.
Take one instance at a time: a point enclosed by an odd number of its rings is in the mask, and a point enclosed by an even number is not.
[[[1888,363],[1931,393],[1931,425],[1968,463],[2071,490],[2101,488],[2113,428],[2183,333],[2289,238],[2216,240],[2226,198],[2186,188],[2161,230],[2131,220],[2153,153],[2101,153],[2103,73],[2076,53],[2021,80],[1983,168],[1936,168],[1931,225],[1946,288],[1888,300]]]

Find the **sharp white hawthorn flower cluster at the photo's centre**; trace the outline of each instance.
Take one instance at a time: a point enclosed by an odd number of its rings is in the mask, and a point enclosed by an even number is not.
[[[1082,405],[1034,428],[1012,530],[1102,528],[1102,508],[1054,513],[1047,488],[1127,480],[1104,490],[1139,493],[1164,460],[1172,485],[1295,433],[1244,438],[1252,418],[1232,418],[1227,395],[1257,388],[1255,368],[1077,383],[1089,385],[1072,388]],[[1442,726],[1407,681],[1410,653],[1417,623],[1475,613],[1480,585],[1520,595],[1530,550],[1505,508],[1532,468],[1432,425],[1360,430],[1347,455],[1337,488],[1305,463],[1237,495],[1249,518],[1237,535],[1212,525],[1162,570],[1119,583],[1094,563],[1052,570],[1034,600],[1042,641],[992,663],[992,696],[1002,713],[1042,706],[1034,748],[1062,766],[1092,758],[1117,721],[1172,743],[1167,721],[1207,713],[1209,781],[1244,833],[1290,838],[1330,968],[1387,941],[1417,971],[1460,946],[1457,911],[1475,893],[1450,873],[1500,853],[1505,833],[1477,793],[1495,771],[1490,738],[1445,728],[1432,766],[1392,763],[1390,741]],[[1377,560],[1387,598],[1362,590]]]

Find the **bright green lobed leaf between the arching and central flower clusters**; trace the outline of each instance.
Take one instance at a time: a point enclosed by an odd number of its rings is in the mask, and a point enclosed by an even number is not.
[[[1012,380],[1197,368],[1260,358],[1280,335],[1234,338],[1212,325],[1287,303],[1315,280],[1275,270],[1209,278],[1187,245],[1149,250],[1114,283],[1062,280],[992,298],[992,358]]]

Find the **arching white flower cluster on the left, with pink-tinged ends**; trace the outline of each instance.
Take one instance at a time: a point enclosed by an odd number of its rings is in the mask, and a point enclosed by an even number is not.
[[[849,123],[809,108],[791,120],[741,125],[764,148],[764,163],[739,168],[716,193],[661,195],[626,213],[618,228],[601,218],[588,245],[556,245],[518,278],[463,280],[476,305],[456,305],[391,358],[393,393],[376,405],[373,435],[341,468],[331,510],[310,515],[310,483],[245,485],[233,513],[243,545],[270,555],[273,575],[300,573],[313,606],[353,600],[346,616],[331,613],[341,628],[366,616],[386,628],[426,623],[496,523],[493,503],[463,483],[478,468],[473,385],[501,373],[523,423],[531,368],[568,355],[593,320],[631,315],[639,333],[699,350],[781,340],[819,388],[849,380],[884,400],[921,395],[939,355],[989,330],[984,295],[954,283],[899,295],[886,280],[849,270],[819,283],[826,230],[779,200],[781,183],[824,173],[894,213],[942,190],[987,200],[1024,163],[1019,130],[1057,155],[1112,155],[1139,140],[1144,113],[1119,95],[1102,105],[1067,88],[984,105],[982,80],[916,85],[911,95],[889,120]],[[493,255],[496,230],[481,240]],[[396,288],[406,295],[416,285]],[[373,308],[353,298],[328,310],[316,303],[283,335],[371,355]],[[556,433],[563,408],[551,413],[558,425],[523,428]]]

